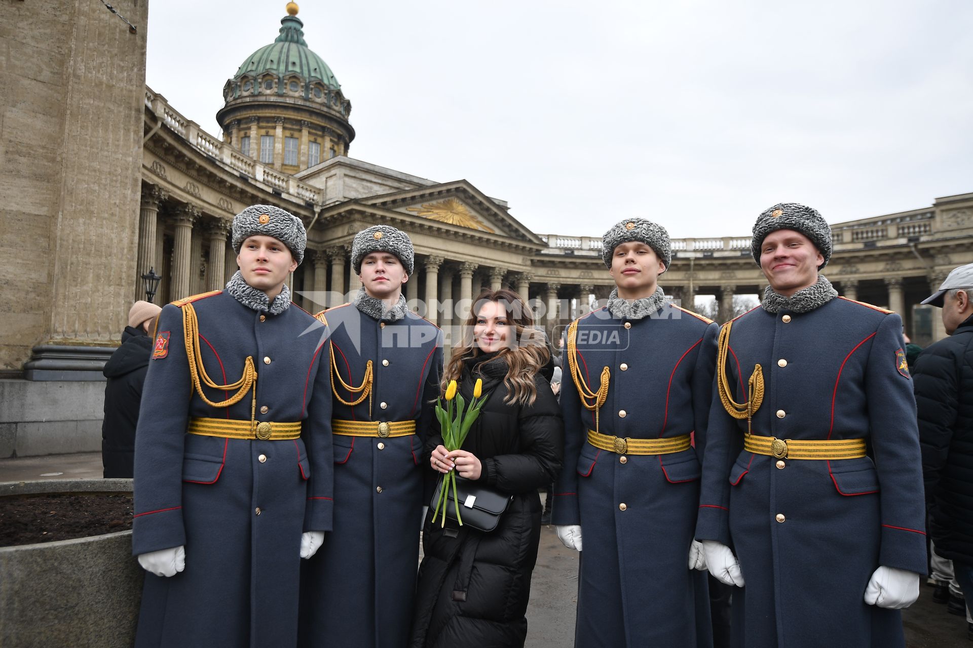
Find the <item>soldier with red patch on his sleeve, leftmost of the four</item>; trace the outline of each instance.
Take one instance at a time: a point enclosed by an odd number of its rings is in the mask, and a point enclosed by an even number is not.
[[[301,558],[332,524],[323,327],[291,303],[300,219],[234,218],[225,290],[162,309],[135,435],[136,646],[295,645]]]

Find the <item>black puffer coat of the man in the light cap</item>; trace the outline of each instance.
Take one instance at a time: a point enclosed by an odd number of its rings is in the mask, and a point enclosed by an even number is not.
[[[919,355],[913,379],[932,541],[973,564],[973,317]]]

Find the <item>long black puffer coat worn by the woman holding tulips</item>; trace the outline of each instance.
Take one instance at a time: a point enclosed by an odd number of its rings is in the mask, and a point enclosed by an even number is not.
[[[534,403],[518,406],[503,402],[506,362],[492,356],[477,359],[483,358],[472,372],[463,367],[459,385],[467,402],[478,377],[484,379],[484,393],[490,394],[463,449],[483,463],[481,480],[486,485],[515,496],[497,528],[487,533],[455,523],[450,528],[451,521],[442,529],[438,520],[431,524],[430,509],[422,534],[413,648],[523,646],[527,633],[524,613],[540,542],[537,489],[550,485],[558,474],[564,426],[548,382],[552,364],[534,377]],[[429,466],[430,454],[442,442],[441,436],[432,435],[423,465]],[[465,591],[466,600],[453,600],[454,591]]]

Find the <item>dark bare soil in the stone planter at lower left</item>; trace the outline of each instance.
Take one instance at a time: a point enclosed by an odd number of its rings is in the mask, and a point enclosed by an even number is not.
[[[131,529],[130,493],[0,497],[0,547]]]

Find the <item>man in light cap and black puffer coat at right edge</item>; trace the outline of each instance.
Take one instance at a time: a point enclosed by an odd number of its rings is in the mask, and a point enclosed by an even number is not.
[[[922,478],[933,551],[953,561],[967,607],[973,603],[973,263],[955,268],[923,304],[943,309],[950,337],[916,362]],[[973,638],[973,624],[967,623]]]

